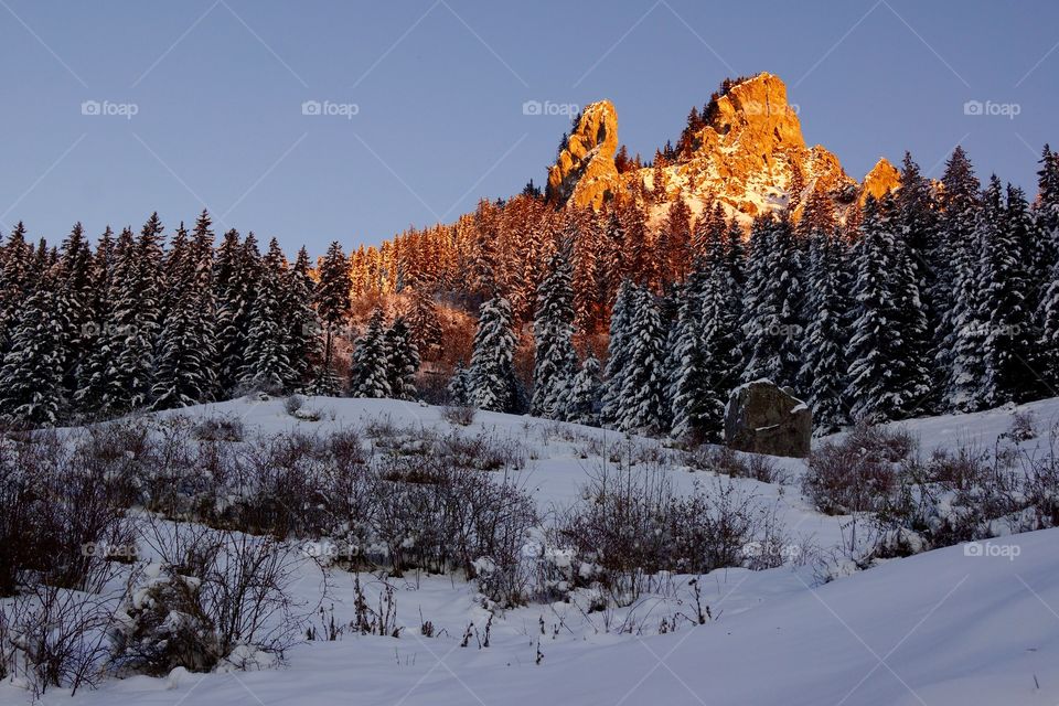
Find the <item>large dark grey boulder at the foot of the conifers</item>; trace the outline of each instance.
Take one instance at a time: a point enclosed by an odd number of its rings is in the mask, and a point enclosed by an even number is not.
[[[768,379],[731,391],[725,408],[725,445],[769,456],[809,456],[813,413],[809,405]]]

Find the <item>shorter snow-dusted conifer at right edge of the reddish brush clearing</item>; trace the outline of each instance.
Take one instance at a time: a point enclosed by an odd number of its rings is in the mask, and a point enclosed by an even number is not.
[[[515,377],[514,354],[511,303],[503,297],[493,297],[479,312],[468,368],[468,402],[471,405],[490,411],[521,411],[523,394]]]

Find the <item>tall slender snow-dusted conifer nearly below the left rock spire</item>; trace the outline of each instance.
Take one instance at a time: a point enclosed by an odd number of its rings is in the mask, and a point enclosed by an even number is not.
[[[536,355],[533,367],[532,414],[561,418],[561,397],[577,373],[574,352],[574,291],[570,265],[564,250],[548,263],[548,275],[537,289],[533,322]]]

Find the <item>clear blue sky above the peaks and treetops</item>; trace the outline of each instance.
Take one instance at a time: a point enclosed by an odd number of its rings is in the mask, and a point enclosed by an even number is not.
[[[962,142],[980,175],[1031,190],[1059,142],[1057,43],[1053,0],[0,0],[0,224],[58,239],[205,205],[288,250],[374,244],[542,183],[568,118],[525,100],[610,98],[650,154],[759,71],[854,176],[905,149],[938,175]]]

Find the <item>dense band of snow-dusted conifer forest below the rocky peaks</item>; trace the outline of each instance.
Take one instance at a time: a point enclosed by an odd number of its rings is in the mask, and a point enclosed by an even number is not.
[[[1048,147],[1033,203],[983,186],[958,148],[939,182],[906,156],[880,199],[844,206],[810,184],[749,232],[730,215],[642,194],[556,210],[527,189],[315,263],[253,233],[217,244],[206,212],[168,242],[152,214],[94,246],[79,224],[55,247],[20,223],[0,247],[0,414],[58,424],[257,389],[414,398],[442,307],[478,314],[454,402],[628,430],[715,439],[731,388],[761,377],[820,430],[1055,394]],[[351,328],[363,302],[382,306]]]

